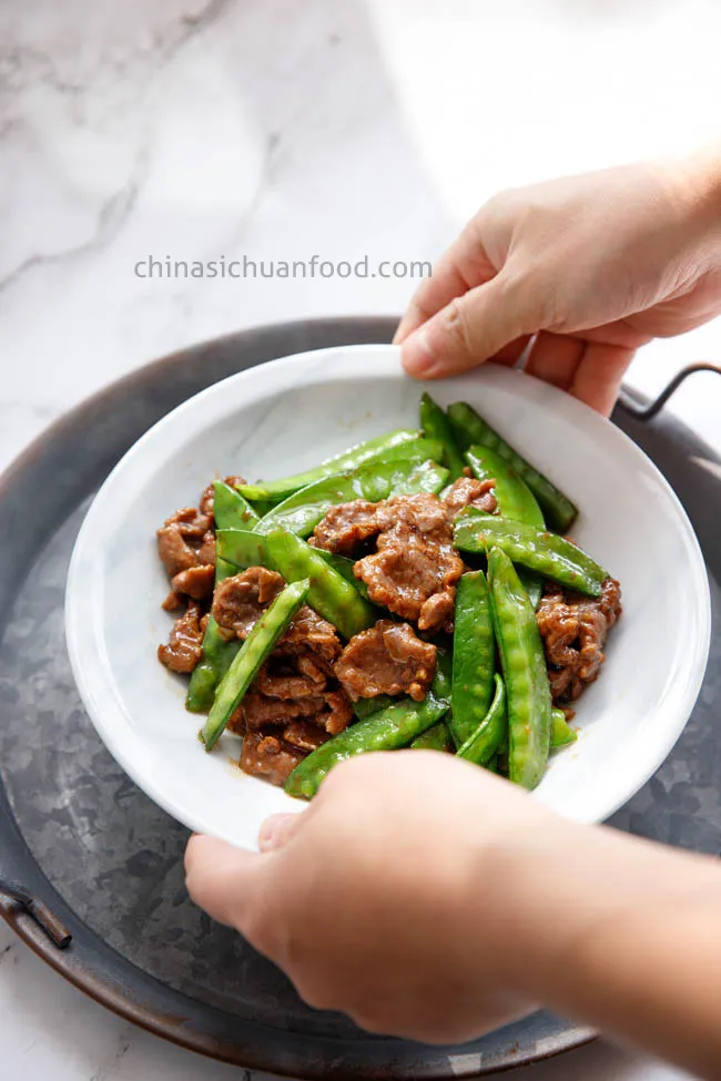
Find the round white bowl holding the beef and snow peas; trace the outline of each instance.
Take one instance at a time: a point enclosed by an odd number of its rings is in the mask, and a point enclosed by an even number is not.
[[[70,568],[70,659],[98,732],[133,781],[192,829],[255,848],[272,812],[301,810],[237,767],[240,740],[212,754],[186,713],[186,681],[156,659],[171,618],[155,529],[196,504],[214,477],[280,477],[390,428],[417,426],[422,386],[392,346],[286,357],[233,376],[155,425],[98,493]],[[606,818],[651,776],[699,693],[709,588],[673,491],[618,428],[576,399],[508,368],[435,383],[467,400],[580,508],[575,539],[621,581],[623,615],[600,679],[583,694],[580,737],[552,756],[536,798],[580,822]],[[368,793],[373,798],[373,793]]]

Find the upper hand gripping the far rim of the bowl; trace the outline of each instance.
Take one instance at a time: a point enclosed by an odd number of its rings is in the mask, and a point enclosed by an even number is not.
[[[610,414],[636,349],[721,310],[710,154],[504,192],[412,299],[395,341],[418,378],[515,365]]]

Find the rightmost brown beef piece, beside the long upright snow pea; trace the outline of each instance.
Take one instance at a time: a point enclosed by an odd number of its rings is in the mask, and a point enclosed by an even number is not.
[[[621,589],[612,578],[606,579],[599,598],[546,585],[536,619],[555,703],[575,702],[598,677],[608,631],[621,611]]]

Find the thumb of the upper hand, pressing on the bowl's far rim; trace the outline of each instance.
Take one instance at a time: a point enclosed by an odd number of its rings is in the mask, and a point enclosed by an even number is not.
[[[539,329],[528,299],[528,292],[502,271],[456,297],[403,343],[406,371],[438,379],[489,360],[510,341]]]

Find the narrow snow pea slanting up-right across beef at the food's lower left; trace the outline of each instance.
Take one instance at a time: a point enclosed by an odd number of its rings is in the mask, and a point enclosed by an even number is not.
[[[212,751],[215,746],[261,666],[287,630],[293,616],[305,604],[309,589],[311,582],[307,579],[286,585],[251,629],[215,692],[213,707],[201,731],[206,751]]]

